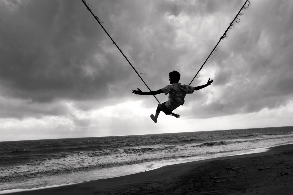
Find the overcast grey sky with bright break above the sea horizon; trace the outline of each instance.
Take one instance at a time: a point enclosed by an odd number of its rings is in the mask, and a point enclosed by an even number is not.
[[[188,84],[242,1],[90,1],[152,90]],[[209,58],[177,119],[80,0],[0,0],[0,141],[293,125],[293,1],[251,0]],[[168,95],[159,94],[162,103]]]

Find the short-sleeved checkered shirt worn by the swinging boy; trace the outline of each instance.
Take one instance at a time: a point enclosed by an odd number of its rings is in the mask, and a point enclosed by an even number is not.
[[[166,101],[166,107],[170,110],[175,110],[180,105],[183,105],[186,94],[192,94],[195,87],[181,85],[181,83],[173,83],[162,89],[165,95],[169,94],[169,99]]]

